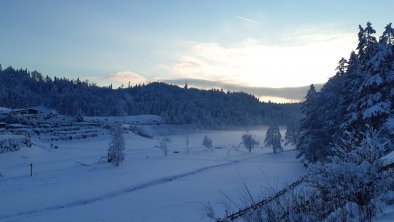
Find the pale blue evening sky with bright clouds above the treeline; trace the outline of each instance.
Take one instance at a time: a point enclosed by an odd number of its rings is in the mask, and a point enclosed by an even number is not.
[[[326,82],[355,50],[358,25],[370,21],[380,34],[393,8],[392,0],[0,0],[0,64],[99,85],[187,82],[277,97],[251,89]],[[281,96],[299,99],[290,97]]]

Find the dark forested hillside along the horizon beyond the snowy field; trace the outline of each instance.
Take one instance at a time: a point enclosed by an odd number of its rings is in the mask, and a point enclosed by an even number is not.
[[[158,82],[112,89],[0,66],[0,106],[37,105],[66,115],[75,115],[79,109],[89,116],[152,114],[168,123],[215,127],[285,123],[299,110],[298,104],[262,103],[243,92],[181,88]]]

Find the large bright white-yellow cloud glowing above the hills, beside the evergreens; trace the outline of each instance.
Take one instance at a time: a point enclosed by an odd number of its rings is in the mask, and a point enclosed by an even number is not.
[[[190,43],[175,62],[162,65],[177,78],[199,78],[252,87],[294,87],[324,83],[337,62],[355,46],[354,34],[305,35],[296,44],[268,45],[245,39],[233,45]]]

